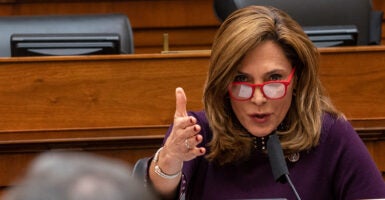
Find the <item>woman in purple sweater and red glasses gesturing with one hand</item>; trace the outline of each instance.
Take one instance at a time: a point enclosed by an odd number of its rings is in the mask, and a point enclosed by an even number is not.
[[[385,198],[365,145],[324,94],[318,52],[301,27],[271,7],[234,12],[215,37],[203,112],[176,90],[174,124],[149,167],[164,198]],[[294,191],[267,156],[276,133]]]

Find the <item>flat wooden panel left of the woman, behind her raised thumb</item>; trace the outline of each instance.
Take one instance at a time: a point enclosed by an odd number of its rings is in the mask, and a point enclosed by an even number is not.
[[[201,108],[195,97],[208,55],[11,58],[0,65],[2,130],[164,125],[178,86],[194,97],[190,108]]]

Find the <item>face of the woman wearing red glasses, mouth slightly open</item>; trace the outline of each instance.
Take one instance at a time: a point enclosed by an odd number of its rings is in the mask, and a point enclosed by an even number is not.
[[[266,41],[245,55],[238,70],[235,82],[261,84],[287,80],[292,66],[280,46],[273,41]],[[266,98],[257,86],[251,99],[239,101],[230,98],[230,101],[240,123],[252,135],[262,137],[275,130],[285,118],[292,94],[293,81],[288,85],[286,95],[280,99]]]

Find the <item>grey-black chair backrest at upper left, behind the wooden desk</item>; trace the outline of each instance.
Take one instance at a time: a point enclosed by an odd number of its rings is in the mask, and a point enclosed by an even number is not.
[[[134,53],[132,27],[124,14],[0,17],[0,57],[11,56],[13,34],[119,34],[120,52]]]

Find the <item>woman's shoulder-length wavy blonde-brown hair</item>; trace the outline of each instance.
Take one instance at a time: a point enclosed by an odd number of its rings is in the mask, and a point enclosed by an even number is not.
[[[252,152],[252,137],[244,137],[247,131],[232,111],[227,88],[245,54],[266,40],[276,42],[296,67],[295,95],[284,120],[287,129],[278,132],[286,154],[318,144],[324,112],[343,116],[325,95],[318,76],[318,50],[301,26],[273,7],[237,10],[222,23],[214,38],[204,88],[204,107],[213,131],[206,156],[210,161],[223,165],[246,159]]]

